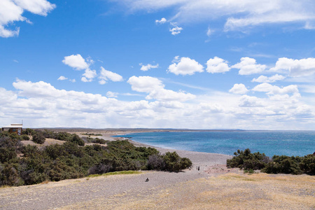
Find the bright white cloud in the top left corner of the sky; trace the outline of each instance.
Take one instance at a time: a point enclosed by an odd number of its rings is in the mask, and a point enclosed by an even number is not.
[[[27,18],[22,16],[24,10],[36,15],[46,16],[55,7],[55,4],[46,0],[1,0],[0,36],[8,38],[19,35],[20,27],[16,27],[15,30],[6,29],[5,27],[16,21],[30,22]]]

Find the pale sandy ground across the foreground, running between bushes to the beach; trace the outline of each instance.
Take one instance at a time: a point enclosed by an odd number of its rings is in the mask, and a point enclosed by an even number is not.
[[[113,140],[130,131],[91,133]],[[314,176],[249,175],[226,168],[229,155],[176,152],[193,167],[0,188],[0,209],[315,209]]]

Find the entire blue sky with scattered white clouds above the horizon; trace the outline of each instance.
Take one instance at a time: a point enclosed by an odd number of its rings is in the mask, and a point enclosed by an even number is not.
[[[1,0],[0,126],[315,130],[314,0]]]

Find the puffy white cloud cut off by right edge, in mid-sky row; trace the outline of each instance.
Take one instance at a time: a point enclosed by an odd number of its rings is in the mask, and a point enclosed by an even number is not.
[[[289,59],[281,57],[270,71],[288,72],[292,77],[310,76],[315,73],[315,58]]]

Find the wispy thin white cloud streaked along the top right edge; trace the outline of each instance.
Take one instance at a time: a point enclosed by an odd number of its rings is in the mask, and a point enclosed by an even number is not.
[[[314,22],[315,6],[309,0],[170,0],[170,1],[143,1],[143,0],[115,0],[125,3],[130,10],[161,10],[174,8],[174,17],[170,20],[177,22],[199,22],[224,18],[225,31],[242,30],[246,27],[258,25],[301,23],[307,26]]]

